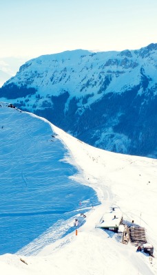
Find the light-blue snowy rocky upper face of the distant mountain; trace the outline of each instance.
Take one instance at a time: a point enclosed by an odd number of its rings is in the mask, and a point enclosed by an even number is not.
[[[147,50],[147,47],[145,49]],[[37,94],[40,94],[41,98],[36,100],[36,94],[31,96],[28,109],[32,111],[33,104],[37,109],[42,109],[44,100],[52,104],[48,96],[59,96],[64,91],[70,94],[65,111],[74,96],[80,100],[81,104],[83,96],[92,94],[87,98],[87,103],[83,104],[87,107],[99,100],[103,94],[111,92],[121,94],[139,85],[141,68],[146,70],[146,76],[151,78],[149,88],[156,85],[156,50],[148,51],[145,58],[140,54],[141,50],[143,49],[129,51],[130,56],[127,55],[127,51],[92,53],[87,50],[39,56],[23,64],[16,76],[10,78],[5,85],[14,83],[18,87],[24,85],[37,89]],[[106,88],[102,87],[102,91],[99,92],[105,76],[111,76],[112,81],[111,83],[109,81],[109,85]],[[29,99],[28,96],[26,99]],[[83,111],[83,108],[80,111]]]

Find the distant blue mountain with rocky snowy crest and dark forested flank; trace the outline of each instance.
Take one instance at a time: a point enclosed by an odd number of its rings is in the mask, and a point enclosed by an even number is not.
[[[87,144],[156,158],[156,61],[157,44],[39,56],[20,67],[0,97]]]

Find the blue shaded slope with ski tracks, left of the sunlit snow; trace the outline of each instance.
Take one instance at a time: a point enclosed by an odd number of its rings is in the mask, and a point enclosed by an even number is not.
[[[51,230],[37,252],[74,230],[69,224],[80,201],[87,208],[98,199],[85,179],[74,178],[78,170],[48,121],[3,102],[0,118],[0,254],[17,252]]]

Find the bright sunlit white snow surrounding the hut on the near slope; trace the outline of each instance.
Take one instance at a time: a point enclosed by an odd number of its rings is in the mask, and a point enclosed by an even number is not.
[[[77,235],[71,232],[46,245],[37,256],[0,256],[2,274],[157,274],[157,160],[103,151],[50,125],[67,146],[68,161],[79,169],[71,178],[81,183],[84,178],[85,184],[97,192],[101,205],[85,212],[86,222]],[[154,258],[136,252],[130,243],[123,245],[121,234],[96,227],[111,206],[120,208],[125,221],[134,219],[145,227],[147,242],[154,245]]]

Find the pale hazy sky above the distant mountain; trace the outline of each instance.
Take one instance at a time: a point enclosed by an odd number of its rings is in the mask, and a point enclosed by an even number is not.
[[[0,0],[0,57],[157,42],[157,0]]]

